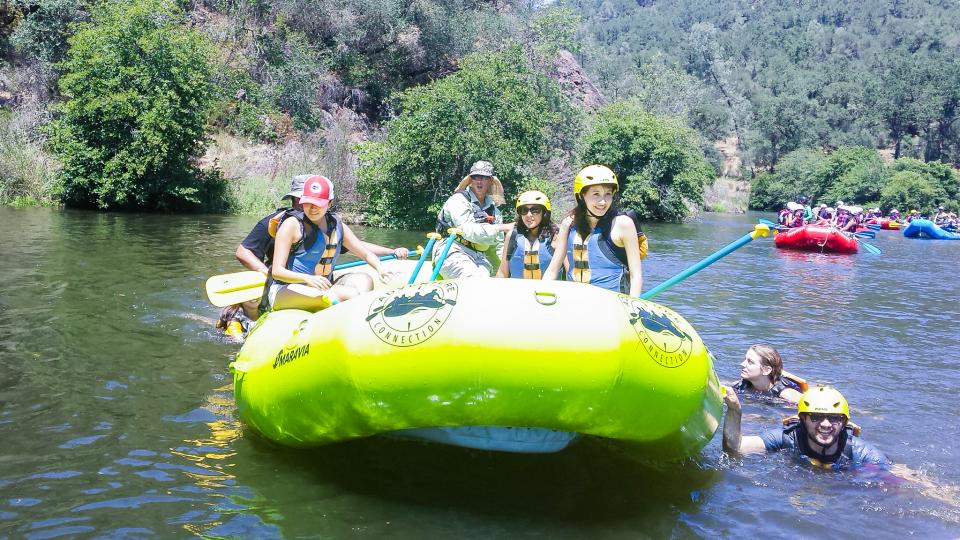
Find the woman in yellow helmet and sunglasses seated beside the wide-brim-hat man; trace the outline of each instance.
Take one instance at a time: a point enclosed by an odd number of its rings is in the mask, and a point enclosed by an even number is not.
[[[550,219],[550,199],[539,191],[517,198],[514,229],[507,232],[497,277],[540,279],[556,251],[557,231]]]

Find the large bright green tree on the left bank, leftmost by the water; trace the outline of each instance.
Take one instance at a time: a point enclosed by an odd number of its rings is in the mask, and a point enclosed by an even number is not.
[[[109,2],[69,40],[50,127],[66,204],[173,209],[204,201],[195,161],[216,98],[211,47],[166,0]]]

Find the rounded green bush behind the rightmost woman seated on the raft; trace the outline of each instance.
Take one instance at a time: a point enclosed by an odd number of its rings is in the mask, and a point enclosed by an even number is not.
[[[694,131],[627,101],[597,112],[579,159],[613,169],[622,204],[645,219],[682,220],[689,205],[703,204],[704,185],[716,176]]]

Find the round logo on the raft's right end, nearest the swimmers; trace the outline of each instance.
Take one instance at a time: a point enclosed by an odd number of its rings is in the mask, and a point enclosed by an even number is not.
[[[640,344],[654,362],[665,368],[680,367],[690,359],[693,338],[683,331],[683,321],[656,304],[620,295]]]

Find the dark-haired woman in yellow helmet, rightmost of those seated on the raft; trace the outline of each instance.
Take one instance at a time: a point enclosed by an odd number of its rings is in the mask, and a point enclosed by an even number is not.
[[[543,279],[557,279],[564,259],[567,280],[639,296],[643,288],[641,238],[637,224],[614,204],[617,176],[603,165],[590,165],[573,179],[577,206],[560,223],[557,251]]]

